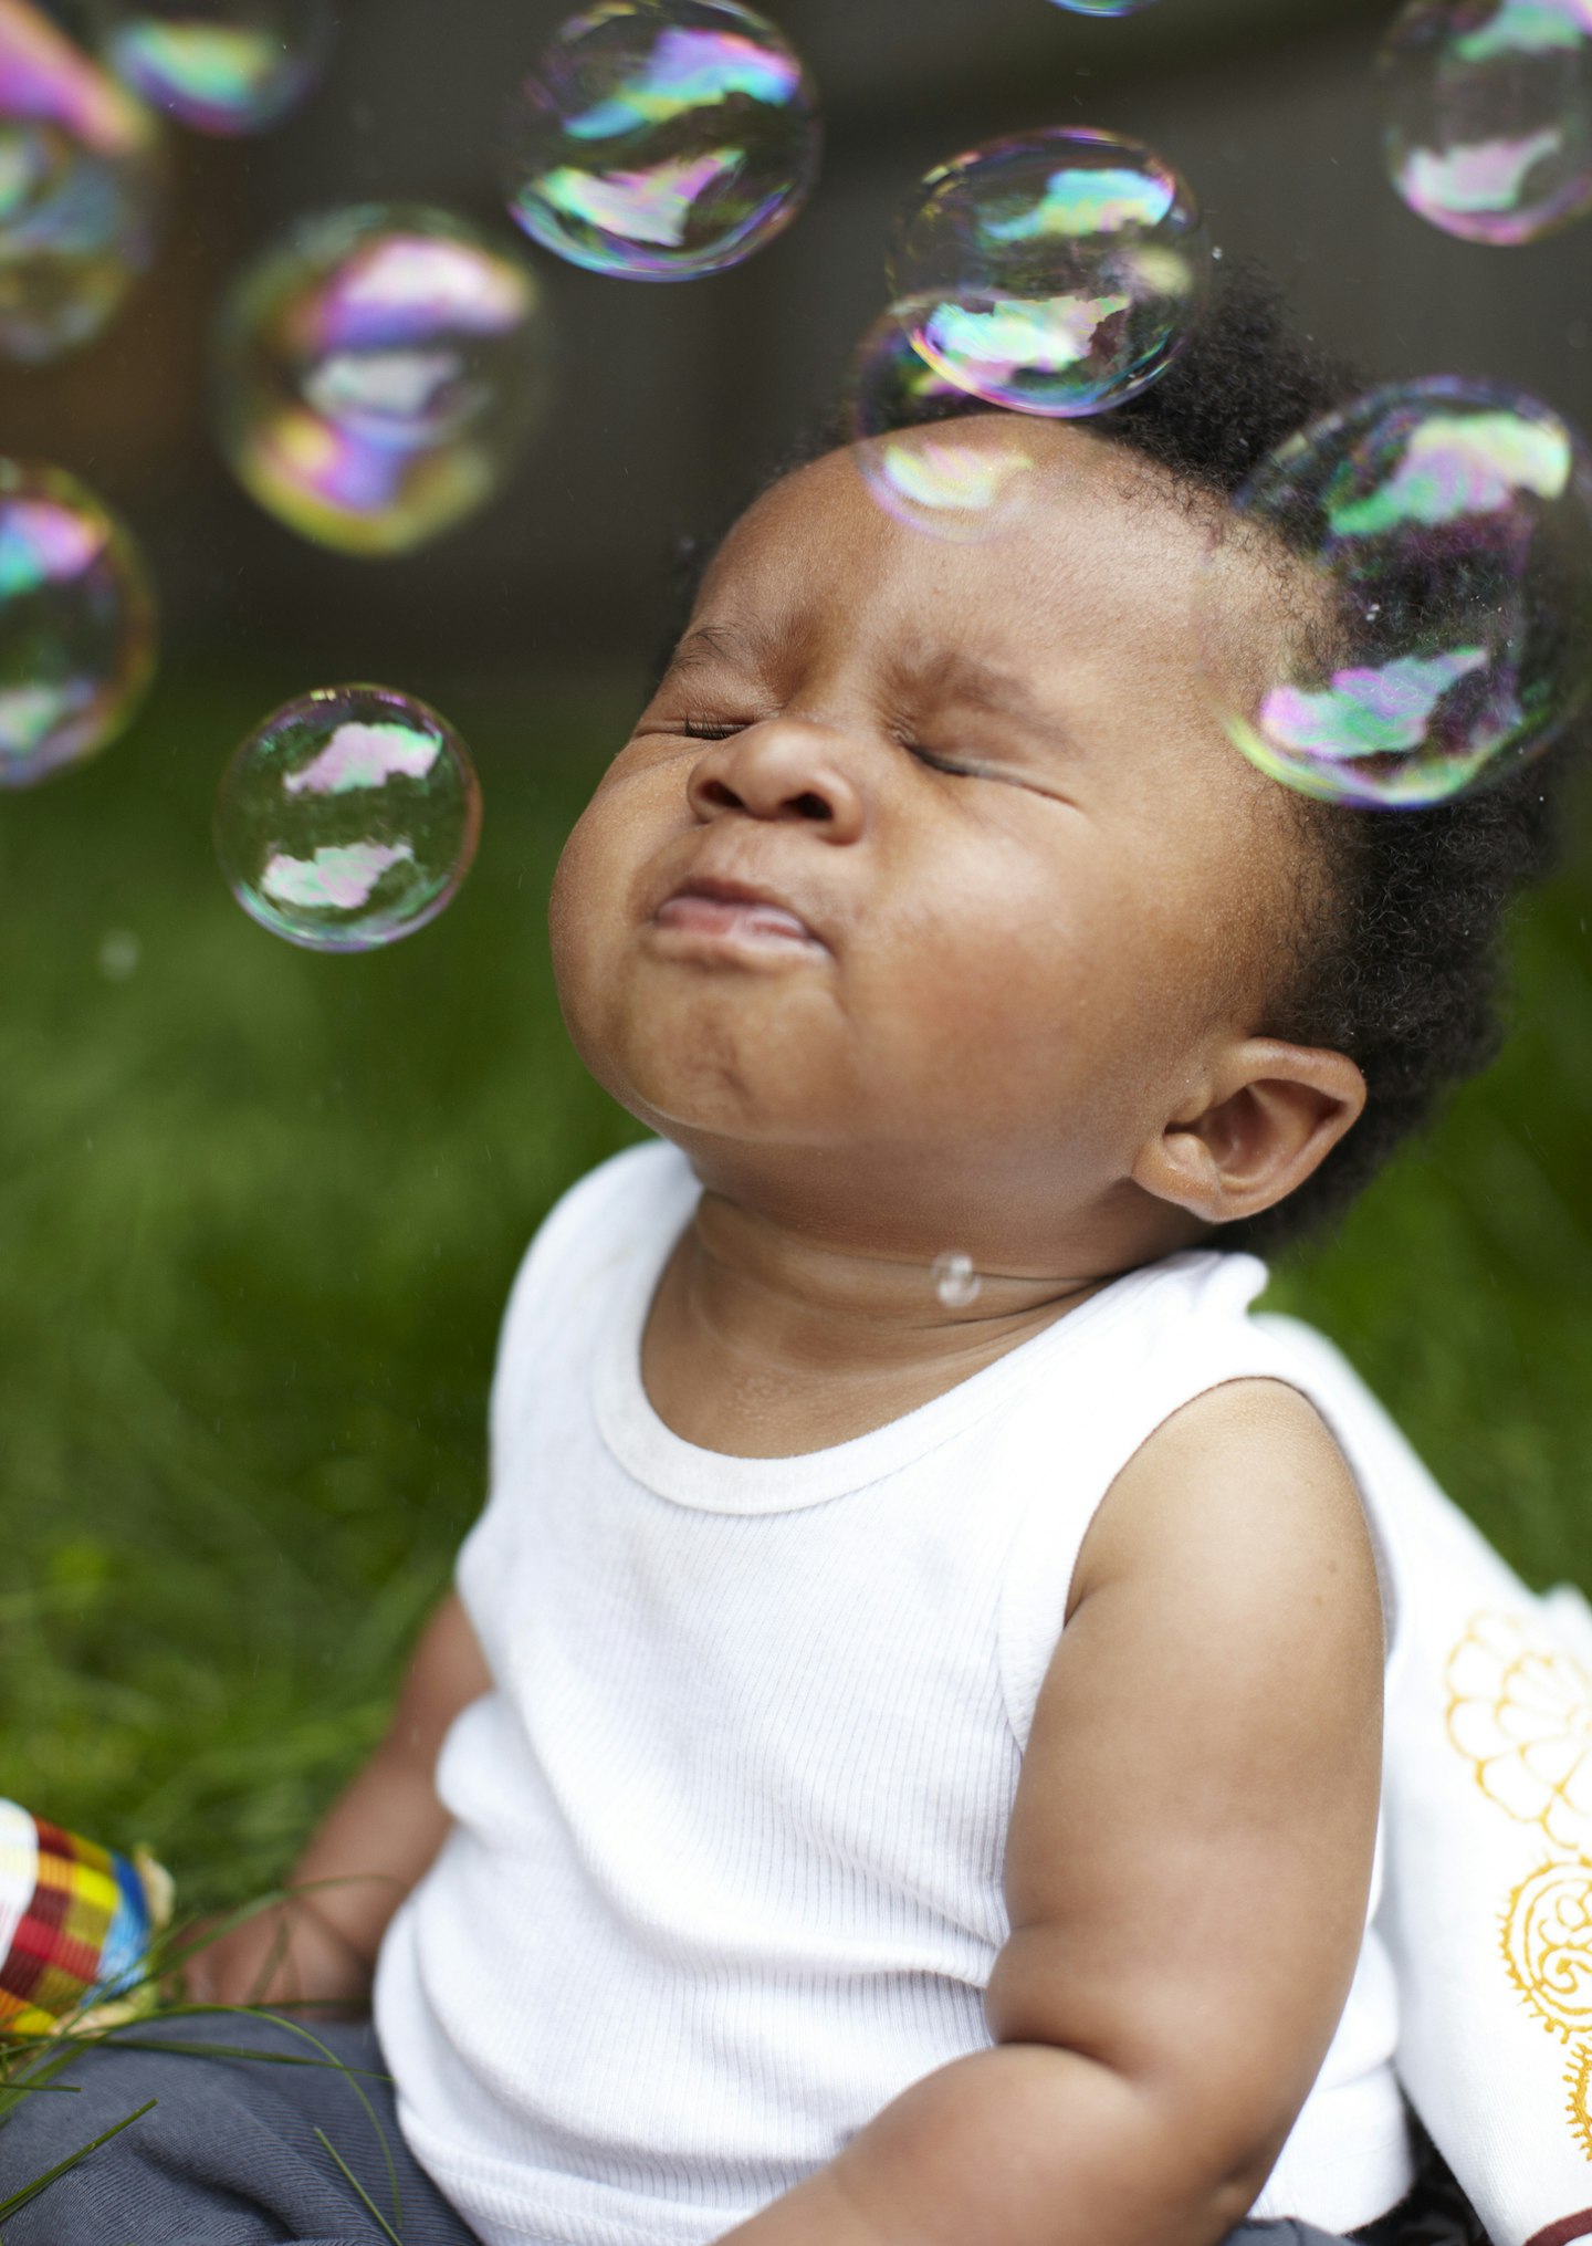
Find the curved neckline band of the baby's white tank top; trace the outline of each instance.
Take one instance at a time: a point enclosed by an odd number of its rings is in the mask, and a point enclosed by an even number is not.
[[[1165,1273],[1199,1264],[1253,1262],[1253,1258],[1228,1258],[1219,1249],[1183,1249],[1161,1262],[1141,1264],[1064,1312],[1031,1341],[1019,1341],[992,1366],[970,1372],[954,1388],[867,1435],[788,1458],[739,1458],[730,1451],[705,1451],[676,1435],[653,1410],[642,1381],[647,1316],[701,1190],[685,1159],[674,1148],[669,1152],[676,1154],[678,1181],[671,1181],[674,1190],[651,1197],[600,1309],[593,1410],[609,1453],[629,1476],[653,1496],[698,1512],[781,1514],[867,1489],[1053,1372],[1087,1339],[1125,1318]],[[1255,1294],[1253,1285],[1248,1294]]]

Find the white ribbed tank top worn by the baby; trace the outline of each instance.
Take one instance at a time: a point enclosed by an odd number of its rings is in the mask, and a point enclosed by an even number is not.
[[[694,1199],[671,1145],[586,1177],[498,1350],[458,1559],[494,1691],[447,1734],[454,1826],[375,1983],[404,2136],[487,2246],[707,2246],[990,2044],[1006,1828],[1078,1547],[1172,1410],[1287,1379],[1367,1482],[1365,1390],[1251,1321],[1264,1267],[1219,1253],[1129,1273],[853,1442],[701,1451],[640,1377]],[[1397,2026],[1367,1923],[1257,2215],[1345,2230],[1403,2197]]]

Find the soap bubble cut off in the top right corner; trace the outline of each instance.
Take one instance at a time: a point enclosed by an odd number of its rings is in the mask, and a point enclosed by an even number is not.
[[[1531,243],[1592,209],[1592,0],[1410,0],[1381,79],[1392,184],[1444,234]]]

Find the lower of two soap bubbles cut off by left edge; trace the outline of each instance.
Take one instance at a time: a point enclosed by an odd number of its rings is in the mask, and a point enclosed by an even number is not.
[[[155,600],[117,517],[58,467],[0,460],[0,788],[81,764],[155,674]]]

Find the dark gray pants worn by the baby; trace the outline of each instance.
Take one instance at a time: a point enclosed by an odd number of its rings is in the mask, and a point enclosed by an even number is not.
[[[368,2024],[314,2024],[346,2066],[377,2075]],[[245,2044],[305,2053],[263,2019],[200,2017],[130,2028],[139,2042]],[[146,2100],[159,2105],[4,2224],[4,2246],[391,2246],[359,2192],[314,2136],[323,2129],[402,2246],[478,2246],[404,2145],[388,2082],[359,2078],[397,2170],[402,2219],[370,2120],[337,2073],[258,2060],[117,2051],[101,2044],[0,2127],[0,2201]],[[1228,2246],[1332,2246],[1307,2224],[1244,2224]]]

